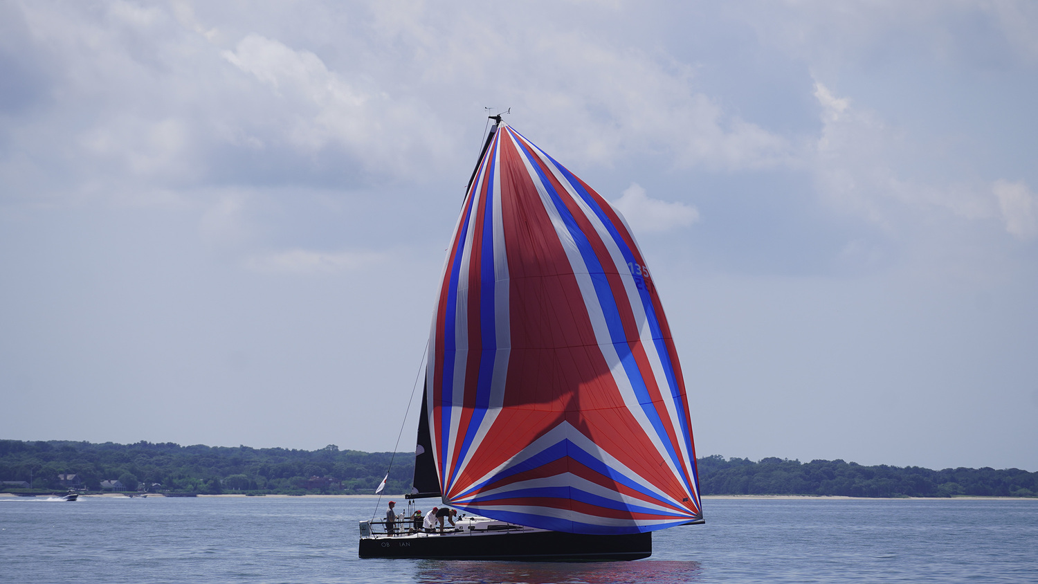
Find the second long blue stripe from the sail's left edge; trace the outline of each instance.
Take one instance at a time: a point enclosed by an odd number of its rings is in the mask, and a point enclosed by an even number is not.
[[[488,150],[488,170],[484,177],[487,184],[487,195],[484,197],[483,205],[483,238],[480,247],[480,336],[482,337],[482,351],[480,352],[480,372],[475,388],[475,407],[472,410],[472,417],[469,419],[468,427],[464,429],[465,439],[462,441],[461,450],[458,453],[458,465],[465,460],[472,440],[480,429],[483,418],[487,415],[487,407],[490,405],[491,381],[494,373],[494,358],[497,356],[497,331],[494,318],[495,314],[495,274],[494,274],[494,187],[493,177],[494,155],[497,151],[497,140]],[[469,282],[469,294],[472,293],[472,282]],[[474,349],[474,347],[469,347]],[[459,428],[461,429],[461,428]],[[452,469],[452,481],[454,473],[458,469]]]

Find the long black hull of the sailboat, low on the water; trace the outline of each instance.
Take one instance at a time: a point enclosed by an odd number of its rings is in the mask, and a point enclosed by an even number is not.
[[[361,558],[617,561],[652,555],[652,533],[585,535],[558,531],[362,537]]]

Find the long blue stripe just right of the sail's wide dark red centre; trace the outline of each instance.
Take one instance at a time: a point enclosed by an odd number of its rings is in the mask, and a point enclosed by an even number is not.
[[[526,144],[518,141],[517,143],[523,149],[523,151],[526,152],[526,156],[531,161],[536,160],[537,157],[535,157],[534,154],[529,150],[529,148],[526,147]],[[550,159],[550,157],[548,158]],[[556,167],[561,168],[561,166],[553,160],[551,162],[555,164]],[[671,439],[667,436],[666,428],[663,425],[663,420],[660,418],[659,412],[656,411],[655,406],[653,406],[652,404],[652,397],[649,395],[649,388],[645,384],[645,379],[641,377],[641,371],[639,370],[637,362],[634,359],[634,355],[631,352],[630,343],[627,341],[627,335],[624,333],[623,322],[620,318],[620,310],[617,308],[616,298],[612,296],[612,289],[609,286],[608,278],[605,275],[605,271],[602,269],[602,265],[598,259],[598,255],[595,254],[595,249],[592,247],[591,242],[588,240],[588,237],[580,229],[580,226],[577,225],[576,219],[574,219],[573,215],[566,206],[566,203],[563,202],[559,193],[555,191],[554,187],[548,180],[548,177],[545,175],[540,165],[534,163],[530,166],[534,167],[534,170],[537,172],[538,176],[540,176],[541,184],[544,186],[544,189],[548,193],[549,197],[551,197],[551,200],[555,205],[555,210],[557,211],[559,217],[563,220],[563,224],[569,231],[570,237],[573,238],[577,250],[579,251],[580,256],[583,258],[584,265],[588,267],[588,271],[590,272],[591,276],[591,281],[595,287],[595,295],[598,298],[599,306],[601,307],[603,316],[605,317],[606,328],[608,329],[610,340],[612,341],[612,345],[617,351],[617,355],[620,358],[620,362],[624,367],[624,372],[627,374],[627,379],[631,384],[631,389],[634,390],[634,395],[637,398],[638,404],[641,405],[641,411],[646,414],[646,417],[649,419],[649,423],[652,424],[653,429],[655,429],[656,435],[660,439],[659,440],[660,443],[663,445],[663,447],[667,451],[667,454],[671,456],[671,461],[674,463],[676,468],[680,469],[682,467],[681,457],[678,455],[678,452],[674,449],[674,444],[671,443]],[[567,176],[567,179],[569,179],[569,176]],[[594,201],[592,201],[592,203],[594,203]],[[592,208],[597,208],[597,206],[598,206],[597,204],[592,204]],[[606,220],[604,223],[606,225],[611,225],[611,223],[608,220]],[[644,294],[647,294],[646,290],[641,291]],[[643,297],[643,302],[645,302],[646,300],[649,299],[647,297]],[[649,309],[651,310],[651,300],[649,300],[649,302],[650,302]],[[668,360],[664,361],[664,369],[668,370],[668,377],[670,377],[672,372],[670,372]],[[675,386],[672,385],[672,388],[674,387]],[[679,473],[679,474],[684,475],[684,473]],[[682,476],[681,479],[683,482],[685,482],[686,485],[688,485],[688,481],[684,476]]]

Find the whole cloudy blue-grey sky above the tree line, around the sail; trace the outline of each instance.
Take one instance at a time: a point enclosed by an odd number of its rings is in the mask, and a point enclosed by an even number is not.
[[[410,450],[510,111],[700,456],[1038,471],[1034,2],[3,0],[0,80],[0,438]]]

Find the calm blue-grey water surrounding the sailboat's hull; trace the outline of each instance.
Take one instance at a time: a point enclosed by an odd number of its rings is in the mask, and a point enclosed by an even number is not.
[[[383,504],[385,500],[383,500]],[[9,582],[1038,582],[1038,501],[706,500],[634,562],[360,560],[375,499],[0,498]]]

